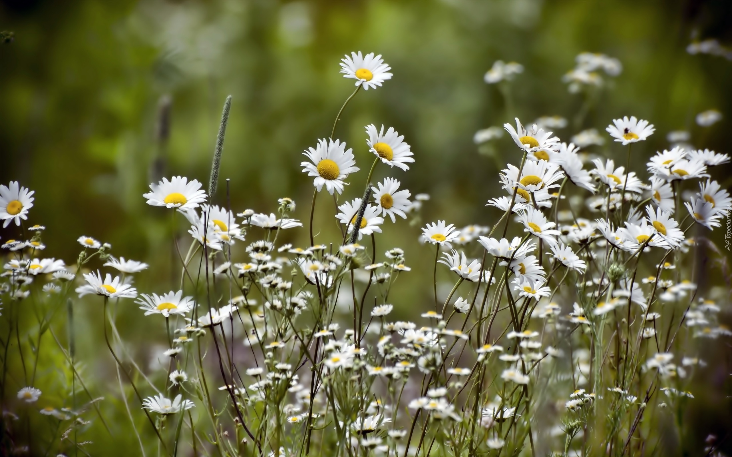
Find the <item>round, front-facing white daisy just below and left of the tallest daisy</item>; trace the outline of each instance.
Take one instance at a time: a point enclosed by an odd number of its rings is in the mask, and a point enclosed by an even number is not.
[[[340,140],[335,140],[335,142],[330,138],[318,140],[318,146],[308,148],[302,154],[310,159],[310,162],[300,163],[300,166],[303,167],[302,172],[307,173],[308,176],[315,176],[313,186],[318,189],[318,192],[325,185],[330,194],[335,191],[340,194],[345,185],[343,180],[350,173],[359,170],[359,167],[354,166],[356,161],[353,149],[346,150],[346,143],[341,143]]]

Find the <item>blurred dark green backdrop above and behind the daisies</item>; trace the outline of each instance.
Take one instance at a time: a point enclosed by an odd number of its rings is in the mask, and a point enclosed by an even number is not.
[[[655,135],[633,149],[632,170],[644,180],[646,159],[668,148],[672,130],[690,131],[695,147],[729,153],[732,61],[692,56],[686,47],[706,38],[732,44],[731,20],[728,0],[3,0],[0,31],[14,32],[14,40],[0,45],[0,182],[17,179],[36,191],[30,222],[48,227],[45,257],[74,263],[75,239],[89,235],[111,243],[117,256],[172,274],[169,214],[141,195],[159,175],[207,185],[231,94],[214,203],[225,204],[223,179],[231,178],[235,211],[269,213],[278,197],[290,196],[307,226],[312,178],[301,172],[301,153],[329,135],[354,89],[338,72],[340,58],[362,50],[381,53],[394,77],[361,91],[338,126],[335,136],[354,148],[362,168],[340,201],[362,193],[373,161],[364,126],[385,124],[406,136],[416,162],[406,173],[378,167],[375,181],[391,175],[413,195],[431,194],[425,221],[491,224],[500,214],[484,204],[498,195],[498,170],[520,156],[507,135],[493,155],[479,154],[473,135],[514,116],[525,123],[564,116],[569,126],[554,130],[567,141],[597,128],[605,146],[591,151],[616,159],[625,149],[605,126],[626,115],[649,119]],[[576,125],[584,98],[569,94],[561,77],[583,51],[619,58],[623,72],[605,78],[608,86]],[[512,105],[483,81],[498,59],[525,67],[510,85]],[[697,126],[695,115],[711,108],[725,118]],[[715,171],[724,187],[732,184],[728,170]],[[318,199],[322,241],[337,230],[330,200]],[[400,220],[384,233],[387,245],[378,251],[402,246],[408,265],[431,265],[431,249],[415,241],[417,227]],[[0,236],[17,233],[9,227]],[[305,246],[307,228],[285,240]],[[143,273],[141,291],[156,290],[155,275]],[[408,317],[398,302],[422,284],[417,275],[404,281],[395,290],[397,317]],[[119,327],[140,317],[131,310]]]

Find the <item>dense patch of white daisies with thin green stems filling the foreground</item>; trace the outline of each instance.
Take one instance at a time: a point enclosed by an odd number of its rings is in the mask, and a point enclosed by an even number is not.
[[[727,437],[692,439],[687,409],[732,336],[729,155],[673,131],[645,163],[660,127],[634,113],[566,138],[559,116],[505,118],[474,137],[488,155],[512,140],[485,176],[500,191],[472,202],[490,224],[427,217],[400,126],[339,128],[397,74],[387,57],[343,57],[351,92],[297,159],[308,192],[231,205],[232,97],[207,181],[135,189],[171,227],[172,274],[90,233],[46,256],[53,196],[0,186],[1,455],[104,455],[97,437],[124,435],[134,456],[722,456]],[[524,71],[496,61],[485,83],[509,103]],[[581,53],[564,83],[621,72]]]

